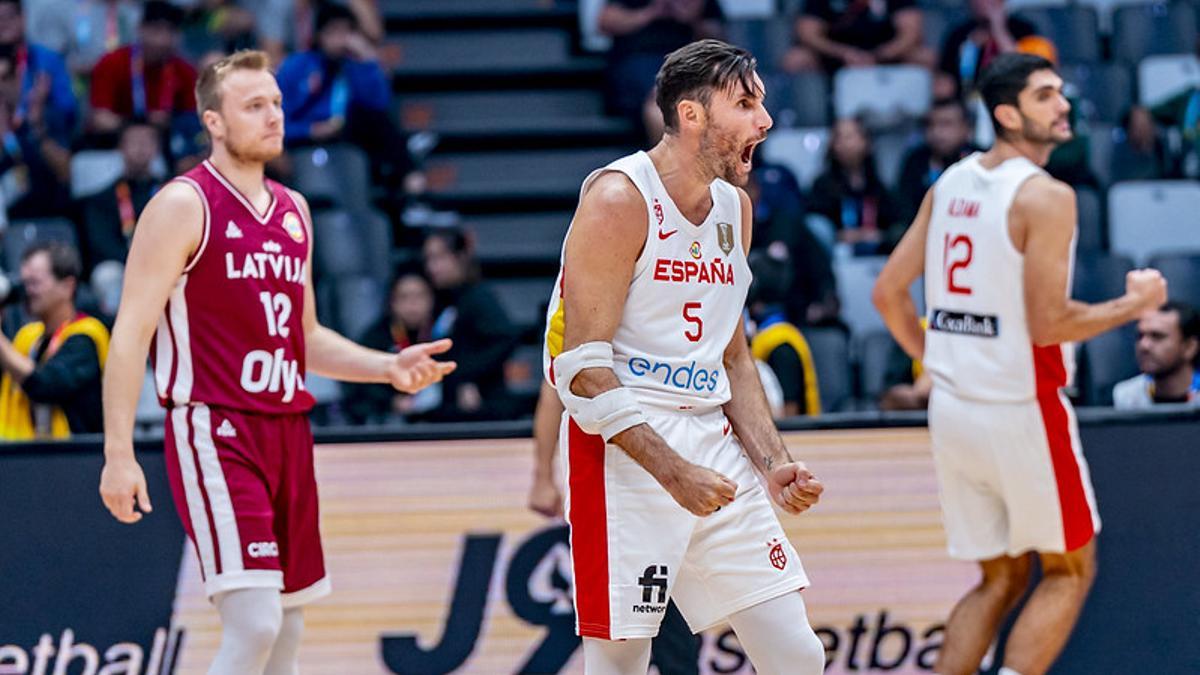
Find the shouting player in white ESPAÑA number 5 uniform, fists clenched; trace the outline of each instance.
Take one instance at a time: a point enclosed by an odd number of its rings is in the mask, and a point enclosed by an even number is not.
[[[546,370],[568,413],[588,675],[646,673],[668,597],[694,632],[731,623],[758,673],[824,668],[772,509],[800,513],[822,486],[775,430],[742,331],[751,207],[736,186],[772,125],[755,65],[714,40],[670,54],[662,141],[588,177],[563,246]]]

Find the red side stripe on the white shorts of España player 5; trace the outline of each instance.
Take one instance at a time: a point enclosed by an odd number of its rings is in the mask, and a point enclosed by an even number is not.
[[[572,419],[568,425],[566,448],[571,486],[571,562],[575,567],[575,613],[580,635],[611,640],[605,443],[600,436],[584,434]]]

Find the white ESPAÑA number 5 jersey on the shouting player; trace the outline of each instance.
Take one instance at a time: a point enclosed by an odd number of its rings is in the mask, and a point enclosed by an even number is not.
[[[714,180],[709,187],[713,208],[697,226],[679,213],[646,153],[593,172],[583,181],[581,199],[610,171],[625,174],[637,186],[649,223],[612,340],[617,378],[643,404],[676,410],[722,405],[730,400],[722,356],[742,330],[750,288],[738,191]],[[547,378],[551,360],[563,347],[563,292],[560,270],[546,315]]]

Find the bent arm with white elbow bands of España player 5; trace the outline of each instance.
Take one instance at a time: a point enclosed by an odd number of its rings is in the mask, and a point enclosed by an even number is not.
[[[647,219],[641,193],[616,172],[599,177],[580,203],[563,253],[563,352],[554,362],[559,396],[581,428],[581,419],[596,413],[593,432],[614,419],[631,423],[606,440],[649,472],[679,506],[707,515],[733,501],[737,485],[679,456],[646,424],[632,394],[612,370],[612,338],[620,325],[634,265],[646,245]],[[571,360],[584,368],[564,380],[560,370],[574,372]],[[588,366],[592,363],[602,365]],[[601,411],[600,406],[612,410]]]

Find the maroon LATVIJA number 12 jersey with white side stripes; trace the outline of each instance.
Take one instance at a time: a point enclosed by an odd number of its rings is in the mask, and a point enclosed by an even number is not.
[[[259,214],[208,161],[175,180],[204,202],[204,233],[158,319],[160,401],[268,414],[308,411],[304,211],[286,187],[268,180],[271,203]]]

